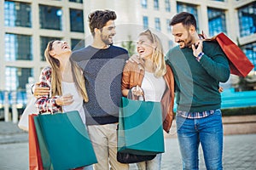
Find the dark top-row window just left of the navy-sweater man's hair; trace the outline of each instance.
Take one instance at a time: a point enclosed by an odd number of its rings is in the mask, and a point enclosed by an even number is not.
[[[70,31],[84,32],[84,14],[83,10],[69,9]]]

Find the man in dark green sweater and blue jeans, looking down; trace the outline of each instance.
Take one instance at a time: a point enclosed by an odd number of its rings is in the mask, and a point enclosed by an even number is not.
[[[230,77],[229,61],[217,42],[203,42],[193,14],[176,14],[170,23],[177,47],[170,49],[176,88],[177,139],[183,169],[198,169],[202,146],[207,169],[222,169],[223,127],[219,82]]]

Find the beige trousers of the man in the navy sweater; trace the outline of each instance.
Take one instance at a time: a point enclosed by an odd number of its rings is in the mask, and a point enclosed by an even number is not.
[[[119,163],[117,155],[117,123],[88,126],[90,140],[96,153],[98,163],[95,170],[128,170],[129,165]]]

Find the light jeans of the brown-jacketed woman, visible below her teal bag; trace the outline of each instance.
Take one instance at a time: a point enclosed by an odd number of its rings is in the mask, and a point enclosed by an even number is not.
[[[137,163],[139,170],[160,170],[162,154],[157,154],[153,160],[142,161]]]

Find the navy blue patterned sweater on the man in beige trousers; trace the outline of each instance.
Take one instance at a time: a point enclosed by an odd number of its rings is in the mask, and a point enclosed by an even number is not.
[[[89,96],[89,102],[84,104],[86,124],[118,122],[121,78],[128,52],[115,46],[106,49],[88,46],[73,52],[71,59],[84,71]]]

